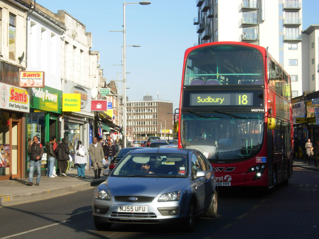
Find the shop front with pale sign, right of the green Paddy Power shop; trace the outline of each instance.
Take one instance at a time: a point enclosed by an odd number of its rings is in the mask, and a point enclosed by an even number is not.
[[[91,90],[79,86],[72,81],[66,80],[63,85],[63,93],[80,94],[81,95],[81,111],[79,112],[63,112],[63,127],[61,134],[66,139],[69,145],[69,150],[72,158],[74,158],[74,150],[80,140],[82,145],[88,149],[93,138],[93,119],[94,114],[91,113]],[[87,160],[88,160],[87,156]],[[73,162],[70,164],[70,169],[73,168]],[[85,168],[89,170],[89,164]]]

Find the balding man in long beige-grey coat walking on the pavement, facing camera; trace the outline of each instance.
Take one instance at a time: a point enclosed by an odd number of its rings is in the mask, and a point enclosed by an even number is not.
[[[90,144],[88,152],[93,163],[94,178],[100,178],[104,152],[101,144],[98,142],[98,139],[96,137],[93,138],[93,143]]]

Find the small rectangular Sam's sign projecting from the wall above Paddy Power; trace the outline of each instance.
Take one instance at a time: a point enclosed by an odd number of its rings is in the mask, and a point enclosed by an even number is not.
[[[44,87],[44,71],[20,71],[20,87]]]

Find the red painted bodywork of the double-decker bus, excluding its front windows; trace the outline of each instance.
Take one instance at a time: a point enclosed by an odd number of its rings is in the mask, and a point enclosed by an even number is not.
[[[293,165],[292,165],[292,144],[293,144],[293,124],[292,124],[292,104],[291,98],[289,103],[289,117],[286,120],[288,127],[290,128],[290,142],[287,142],[289,147],[286,148],[285,155],[280,154],[280,152],[274,152],[272,147],[273,140],[273,132],[274,130],[269,130],[267,128],[267,119],[269,118],[269,109],[271,110],[271,116],[276,118],[278,109],[276,109],[276,98],[279,99],[281,96],[278,96],[277,93],[270,87],[270,82],[268,80],[268,62],[273,61],[273,58],[267,54],[267,50],[261,46],[252,45],[249,43],[242,42],[211,42],[202,45],[198,45],[195,47],[191,47],[185,51],[184,62],[183,62],[183,72],[182,72],[182,84],[181,84],[181,95],[180,95],[180,108],[179,108],[179,121],[178,121],[178,146],[183,147],[182,145],[182,136],[181,136],[181,127],[182,127],[182,114],[183,114],[183,95],[184,95],[184,77],[186,72],[186,64],[189,53],[194,49],[203,48],[210,45],[240,45],[246,46],[249,48],[254,48],[260,51],[263,58],[263,68],[264,68],[264,112],[268,112],[267,117],[263,119],[264,121],[264,131],[263,131],[263,145],[261,149],[254,155],[253,157],[240,162],[211,162],[211,165],[215,171],[216,181],[220,182],[219,186],[257,186],[257,187],[267,187],[268,189],[276,186],[277,183],[286,182],[288,183],[288,179],[292,176],[293,173]],[[268,56],[267,56],[268,55]],[[277,63],[278,64],[278,63]],[[279,64],[278,64],[279,65]],[[288,77],[289,75],[283,71]],[[290,84],[290,77],[289,77]],[[211,89],[215,89],[218,87],[224,86],[209,86]],[[196,86],[194,86],[196,88]],[[226,87],[224,87],[226,89]],[[291,95],[291,89],[290,89]],[[279,98],[278,98],[279,97]],[[282,97],[281,97],[282,98]],[[277,104],[278,105],[278,104]],[[276,151],[276,150],[275,150]],[[256,172],[248,172],[248,170],[259,164],[259,160],[261,158],[266,157],[267,161],[265,163],[266,167],[263,170],[262,176],[256,179]],[[261,162],[260,162],[261,165]],[[235,170],[231,171],[232,168]],[[228,170],[227,170],[228,169]],[[256,169],[256,168],[255,168]],[[229,184],[229,185],[228,185]]]

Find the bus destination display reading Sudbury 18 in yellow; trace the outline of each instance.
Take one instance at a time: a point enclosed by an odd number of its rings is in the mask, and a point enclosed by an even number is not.
[[[250,106],[253,93],[190,93],[189,106]]]

